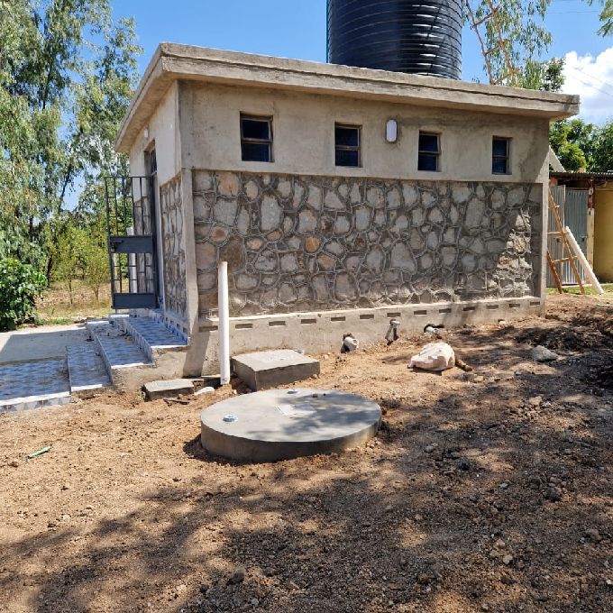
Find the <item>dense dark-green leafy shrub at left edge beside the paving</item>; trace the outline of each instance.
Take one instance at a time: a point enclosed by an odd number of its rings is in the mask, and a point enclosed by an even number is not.
[[[29,264],[0,260],[0,330],[14,330],[34,311],[47,279]]]

